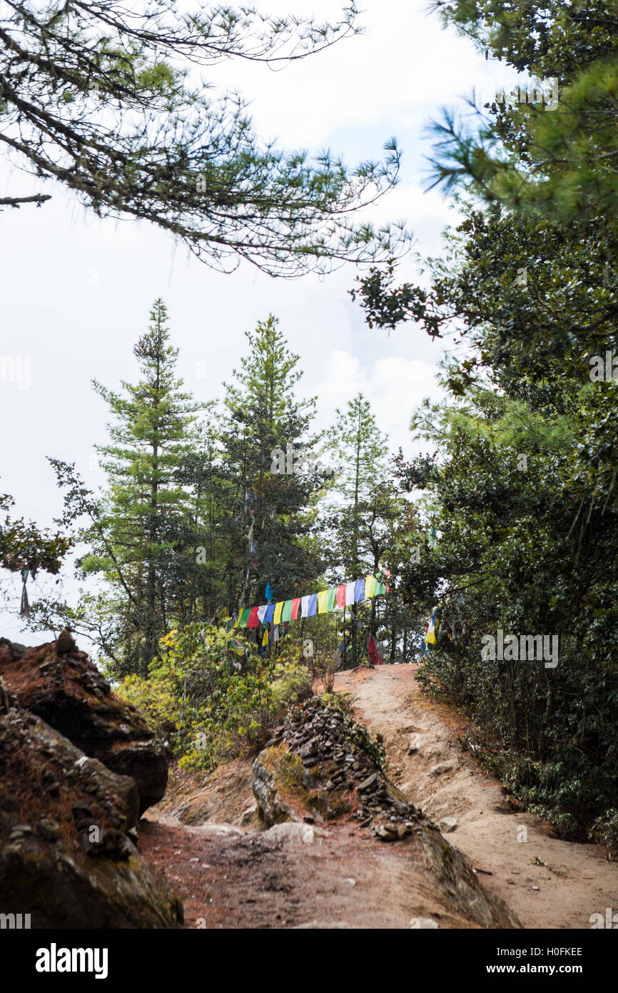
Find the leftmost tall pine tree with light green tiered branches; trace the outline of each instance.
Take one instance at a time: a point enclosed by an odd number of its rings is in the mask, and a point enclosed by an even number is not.
[[[96,525],[83,535],[92,551],[80,562],[86,575],[100,574],[120,596],[115,655],[124,671],[142,674],[178,602],[175,587],[186,552],[179,532],[189,495],[177,473],[200,409],[176,378],[178,350],[170,345],[167,320],[166,306],[157,300],[149,331],[133,350],[141,372],[136,385],[123,381],[119,394],[94,381],[114,420],[108,426],[111,444],[97,446],[108,486]]]

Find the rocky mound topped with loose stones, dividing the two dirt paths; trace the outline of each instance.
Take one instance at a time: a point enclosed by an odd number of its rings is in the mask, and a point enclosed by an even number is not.
[[[388,779],[381,759],[365,729],[312,698],[290,712],[254,761],[260,816],[267,826],[301,822],[297,832],[303,821],[355,818],[371,826],[376,839],[407,846],[415,866],[425,866],[433,895],[451,913],[482,927],[520,927],[482,887],[467,859]]]

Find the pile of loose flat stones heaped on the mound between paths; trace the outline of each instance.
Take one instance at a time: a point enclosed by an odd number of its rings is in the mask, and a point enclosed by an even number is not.
[[[266,748],[284,747],[299,757],[312,808],[326,818],[341,811],[342,795],[350,795],[352,816],[373,826],[384,841],[396,841],[430,822],[385,775],[384,753],[366,729],[319,697],[292,708]],[[325,802],[315,803],[321,791]],[[307,818],[306,818],[307,819]]]

